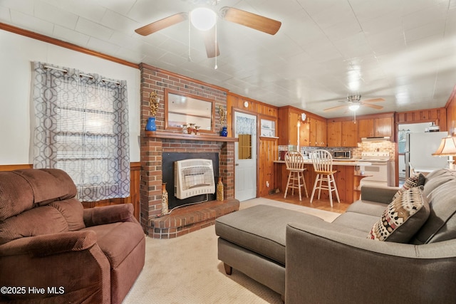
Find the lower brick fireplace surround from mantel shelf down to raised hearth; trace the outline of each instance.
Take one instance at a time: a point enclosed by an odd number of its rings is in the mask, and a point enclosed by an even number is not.
[[[154,239],[181,236],[204,226],[213,225],[217,217],[239,209],[239,201],[234,199],[235,141],[237,141],[235,138],[214,135],[145,132],[145,137],[142,137],[141,152],[140,219],[148,236]],[[200,153],[206,155],[202,156]],[[178,154],[182,156],[178,157]],[[188,157],[212,159],[214,179],[222,177],[225,199],[217,202],[213,194],[212,197],[209,196],[209,201],[183,205],[163,216],[162,183],[167,183],[168,209],[172,210],[175,208],[172,203],[174,199],[173,162]],[[206,197],[200,198],[199,201],[206,199]]]

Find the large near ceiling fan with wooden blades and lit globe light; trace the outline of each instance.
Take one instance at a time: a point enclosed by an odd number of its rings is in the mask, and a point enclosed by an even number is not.
[[[217,1],[215,1],[217,3]],[[207,15],[202,15],[207,14]],[[178,13],[172,16],[168,16],[164,19],[147,24],[140,28],[135,29],[135,32],[147,36],[151,33],[155,33],[169,26],[173,26],[177,23],[185,21],[190,16],[190,22],[193,26],[200,29],[204,32],[204,46],[206,47],[206,53],[208,58],[213,58],[219,56],[219,46],[216,41],[216,29],[215,23],[217,22],[217,14],[206,7],[200,7],[190,11],[190,13]],[[207,26],[198,25],[198,21],[205,21],[207,18],[212,20]],[[219,11],[219,18],[233,23],[240,24],[242,26],[247,26],[253,28],[257,31],[262,31],[264,33],[269,33],[274,35],[279,31],[281,26],[280,21],[274,19],[269,19],[264,16],[257,14],[249,13],[248,11],[242,11],[240,9],[234,9],[234,7],[224,6]]]

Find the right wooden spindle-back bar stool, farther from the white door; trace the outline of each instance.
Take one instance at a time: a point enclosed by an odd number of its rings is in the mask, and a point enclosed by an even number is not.
[[[311,195],[311,204],[316,189],[318,189],[318,199],[320,199],[321,189],[328,190],[331,207],[333,206],[333,195],[331,192],[336,192],[337,201],[340,203],[341,200],[337,192],[336,179],[334,179],[334,173],[337,171],[333,171],[333,157],[331,153],[326,150],[315,150],[312,153],[312,163],[314,164],[316,178]],[[326,184],[323,184],[323,182],[326,182]]]

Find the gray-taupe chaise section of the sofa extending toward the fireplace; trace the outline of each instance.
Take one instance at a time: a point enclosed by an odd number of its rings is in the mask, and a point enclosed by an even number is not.
[[[323,221],[316,216],[257,205],[219,217],[215,233],[222,239],[285,265],[286,224]]]

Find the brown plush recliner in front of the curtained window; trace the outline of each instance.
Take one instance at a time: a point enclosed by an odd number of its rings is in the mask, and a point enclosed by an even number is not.
[[[0,303],[121,303],[144,266],[132,204],[83,209],[59,169],[0,172]]]

